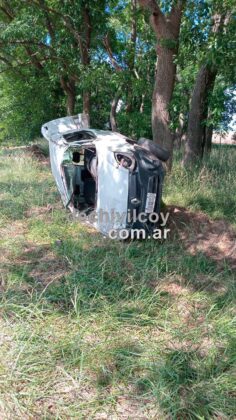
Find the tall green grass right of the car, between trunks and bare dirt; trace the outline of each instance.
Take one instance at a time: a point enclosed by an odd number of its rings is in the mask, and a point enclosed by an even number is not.
[[[164,189],[167,204],[200,210],[214,219],[224,218],[235,224],[236,148],[215,145],[203,164],[184,169],[177,154],[173,171]]]

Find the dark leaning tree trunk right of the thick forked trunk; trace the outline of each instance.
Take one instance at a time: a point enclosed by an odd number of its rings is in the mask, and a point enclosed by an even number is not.
[[[214,88],[216,74],[216,70],[209,65],[204,65],[199,70],[190,105],[184,165],[191,164],[203,156],[204,120],[206,120],[208,97]]]

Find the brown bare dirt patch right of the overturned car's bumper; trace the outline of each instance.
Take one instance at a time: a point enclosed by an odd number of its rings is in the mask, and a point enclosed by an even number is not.
[[[211,220],[201,212],[170,206],[170,228],[191,254],[204,254],[219,266],[236,269],[236,232],[224,220]]]

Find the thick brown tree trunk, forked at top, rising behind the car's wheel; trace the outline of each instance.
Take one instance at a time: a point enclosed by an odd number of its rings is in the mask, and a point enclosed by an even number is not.
[[[178,0],[171,12],[165,15],[156,0],[139,0],[141,6],[151,11],[150,23],[156,34],[157,67],[152,96],[152,132],[155,143],[169,150],[170,159],[167,168],[171,170],[174,136],[170,131],[170,103],[173,95],[178,52],[178,39],[184,0]]]

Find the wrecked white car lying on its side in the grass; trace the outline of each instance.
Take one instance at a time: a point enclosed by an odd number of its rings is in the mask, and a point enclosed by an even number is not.
[[[161,161],[168,152],[140,139],[85,127],[82,114],[42,126],[49,141],[52,173],[65,207],[86,215],[103,234],[111,230],[152,231],[160,212]]]

